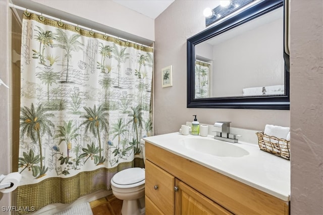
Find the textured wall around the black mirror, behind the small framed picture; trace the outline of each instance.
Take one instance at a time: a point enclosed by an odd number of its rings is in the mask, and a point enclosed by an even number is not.
[[[232,121],[232,127],[263,130],[265,124],[290,126],[289,110],[186,108],[186,40],[205,29],[203,10],[217,1],[175,1],[155,19],[155,134],[177,131],[181,124]],[[219,2],[218,2],[219,4]],[[161,88],[161,68],[173,65],[173,87]]]

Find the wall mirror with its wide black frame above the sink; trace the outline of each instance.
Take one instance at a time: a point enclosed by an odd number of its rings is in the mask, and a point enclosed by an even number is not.
[[[283,0],[260,1],[187,39],[187,107],[289,110],[284,25]]]

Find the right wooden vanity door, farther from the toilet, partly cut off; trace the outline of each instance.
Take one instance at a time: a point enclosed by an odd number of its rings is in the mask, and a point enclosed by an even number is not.
[[[175,214],[233,214],[178,179],[175,186]]]

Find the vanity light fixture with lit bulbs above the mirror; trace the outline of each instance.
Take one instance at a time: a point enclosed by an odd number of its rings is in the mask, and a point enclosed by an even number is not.
[[[223,18],[229,18],[234,14],[242,11],[246,8],[252,7],[259,2],[265,0],[223,0],[220,1],[220,5],[213,10],[206,8],[203,11],[205,16],[205,26],[208,26],[214,22],[217,22]]]

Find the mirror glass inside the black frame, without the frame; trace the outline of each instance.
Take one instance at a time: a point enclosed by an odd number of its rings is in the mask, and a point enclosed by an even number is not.
[[[285,94],[283,7],[195,45],[194,98]]]

